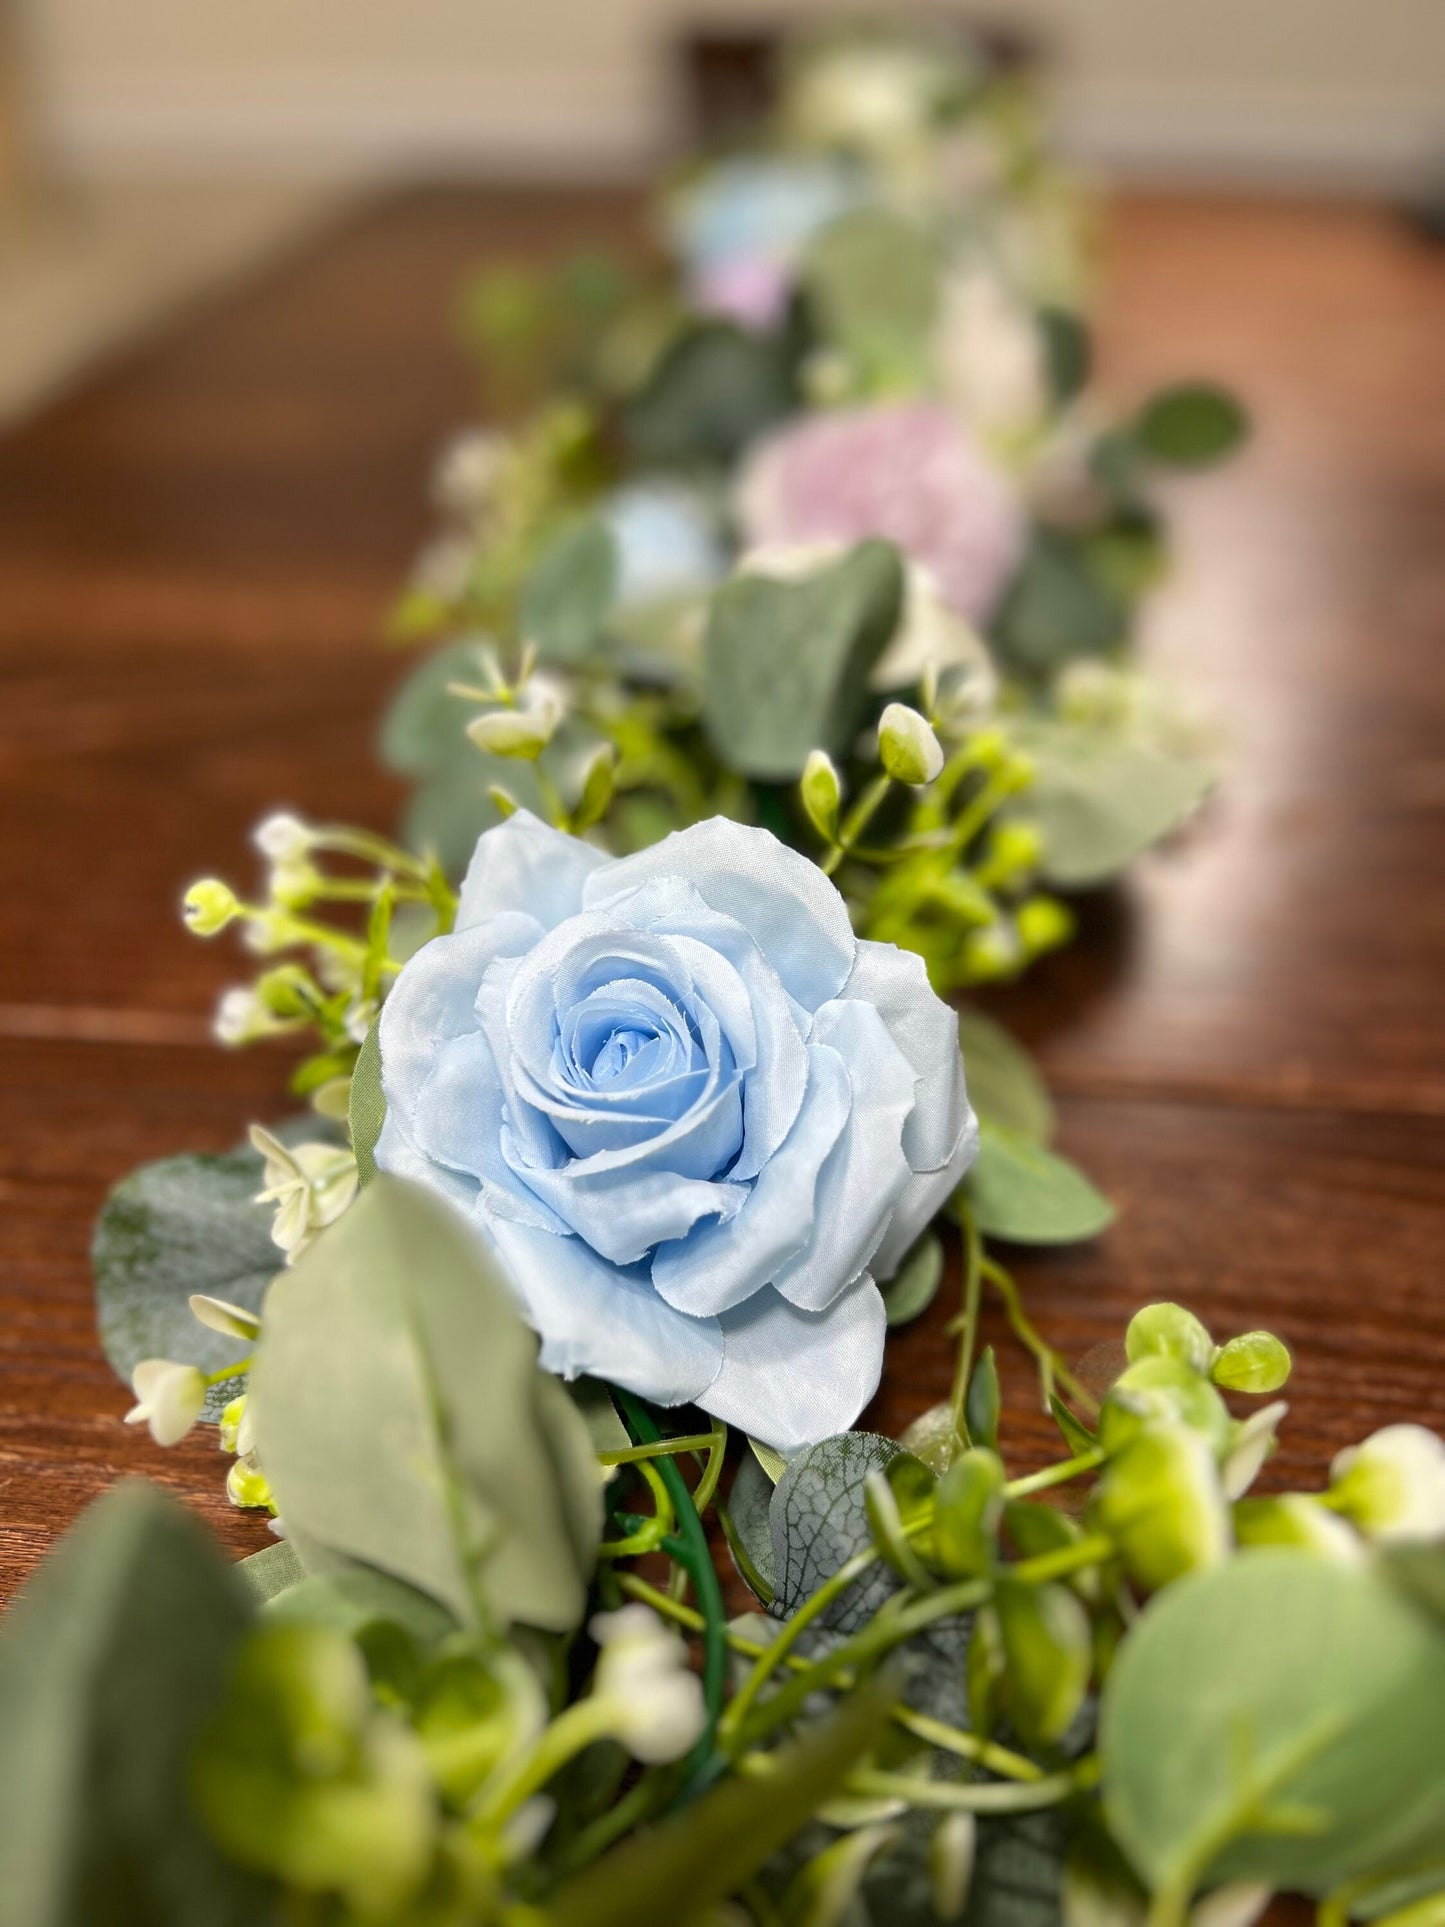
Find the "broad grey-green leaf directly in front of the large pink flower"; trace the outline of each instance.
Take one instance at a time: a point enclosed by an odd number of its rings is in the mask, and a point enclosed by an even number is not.
[[[803,582],[724,582],[703,638],[703,721],[722,757],[748,777],[784,782],[809,750],[844,752],[902,594],[904,570],[886,541],[861,541]]]

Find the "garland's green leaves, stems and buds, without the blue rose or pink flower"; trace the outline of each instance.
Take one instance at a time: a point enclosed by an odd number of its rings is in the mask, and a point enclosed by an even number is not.
[[[744,445],[803,399],[827,416],[931,395],[940,281],[979,251],[998,270],[1067,200],[1015,83],[907,40],[863,52],[869,85],[890,79],[880,118],[850,118],[852,40],[784,96],[769,164],[807,164],[815,193],[827,158],[846,206],[790,239],[776,326],[607,276],[582,326],[576,270],[561,301],[514,277],[474,297],[493,355],[543,341],[522,372],[566,362],[570,395],[472,445],[460,491],[451,462],[464,540],[399,613],[449,640],[385,726],[420,782],[408,831],[272,817],[256,902],[187,896],[202,937],[235,925],[268,960],[222,1037],[308,1037],[310,1112],[118,1187],[100,1332],[131,1418],[162,1443],[216,1422],[231,1499],[285,1536],[227,1569],[183,1509],[125,1486],[8,1615],[0,1863],[27,1927],[1218,1927],[1274,1890],[1314,1896],[1327,1927],[1443,1917],[1445,1447],[1389,1426],[1322,1490],[1256,1495],[1289,1355],[1175,1305],[1129,1322],[1092,1395],[988,1241],[1089,1237],[1110,1206],[1050,1148],[1048,1096],[983,1014],[959,1019],[981,1152],[950,1202],[954,1387],[902,1439],[782,1457],[563,1387],[501,1264],[376,1168],[378,1012],[518,802],[622,850],[713,813],[763,823],[817,858],[861,937],[956,990],[1064,940],[1052,890],[1116,873],[1208,786],[1119,653],[1160,545],[1148,464],[1237,437],[1208,387],[1090,428],[1092,520],[1035,522],[986,649],[888,541],[728,567],[717,505]],[[969,139],[998,164],[959,198]],[[674,193],[684,256],[707,191],[697,170]],[[1029,289],[1052,399],[1000,430],[1017,476],[1077,426],[1069,293],[1058,256]],[[703,505],[715,580],[626,594],[617,491],[638,464]],[[934,647],[879,680],[921,609]],[[512,646],[480,644],[482,622]],[[890,1324],[942,1276],[934,1227]],[[986,1289],[1060,1430],[1040,1468],[1010,1465]],[[1235,1416],[1227,1397],[1270,1403]]]

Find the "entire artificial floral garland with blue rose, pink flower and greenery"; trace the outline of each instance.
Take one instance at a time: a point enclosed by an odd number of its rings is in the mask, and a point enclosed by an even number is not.
[[[310,1037],[308,1114],[96,1229],[129,1418],[218,1424],[281,1536],[233,1571],[121,1488],[15,1605],[6,1917],[1439,1919],[1445,1445],[1254,1495],[1275,1337],[1150,1305],[1096,1397],[988,1243],[1110,1206],[944,998],[1208,788],[1123,651],[1148,464],[1239,428],[1206,387],[1079,397],[1025,110],[830,39],[773,150],[674,191],[667,299],[572,328],[576,287],[484,289],[570,397],[443,464],[407,831],[276,815],[258,902],[185,900],[266,960],[218,1029]],[[940,1214],[952,1395],[852,1430]]]

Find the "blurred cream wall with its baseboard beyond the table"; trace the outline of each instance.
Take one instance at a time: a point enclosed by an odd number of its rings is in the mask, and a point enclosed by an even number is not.
[[[825,0],[31,0],[75,166],[632,172],[686,17]],[[1133,172],[1399,185],[1445,146],[1445,0],[981,0],[1044,29],[1073,146]],[[1437,145],[1439,143],[1439,145]]]

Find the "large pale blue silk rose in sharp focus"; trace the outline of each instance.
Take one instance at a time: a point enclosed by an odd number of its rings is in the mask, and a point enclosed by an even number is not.
[[[784,1451],[867,1405],[875,1280],[979,1139],[921,960],[721,817],[620,859],[487,831],[380,1044],[378,1166],[484,1231],[541,1362]]]

